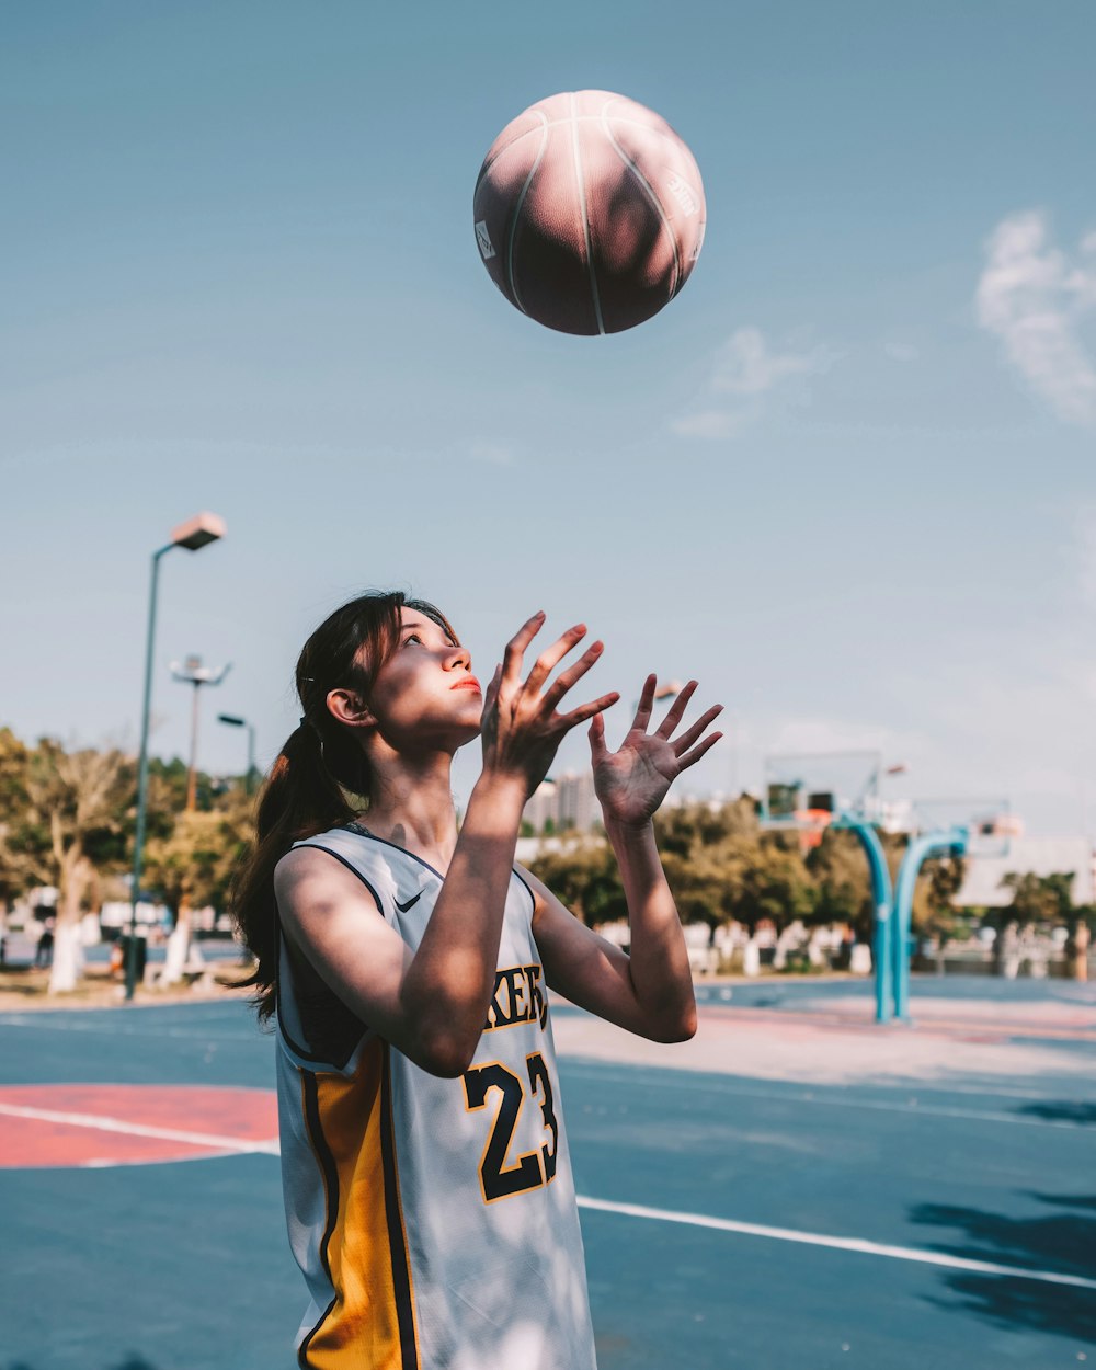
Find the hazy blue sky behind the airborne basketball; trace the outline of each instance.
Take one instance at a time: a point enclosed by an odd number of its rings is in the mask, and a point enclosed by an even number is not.
[[[201,762],[269,760],[310,629],[438,600],[489,671],[532,610],[730,738],[880,747],[895,796],[1096,826],[1096,11],[1085,3],[53,4],[0,21],[0,718],[134,741],[233,670]],[[490,285],[471,190],[534,100],[618,90],[704,175],[629,333]],[[215,707],[214,707],[215,706]],[[618,730],[622,719],[618,721]],[[574,740],[562,764],[582,759]],[[474,756],[459,769],[459,788]],[[1089,795],[1086,786],[1092,789]],[[1089,812],[1091,811],[1091,812]]]

